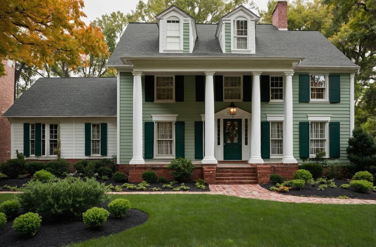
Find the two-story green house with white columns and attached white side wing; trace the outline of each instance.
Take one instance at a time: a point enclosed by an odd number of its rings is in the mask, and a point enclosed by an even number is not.
[[[199,24],[171,6],[130,23],[108,61],[117,78],[39,79],[5,113],[12,155],[55,158],[60,127],[62,157],[117,155],[130,181],[170,176],[176,157],[227,184],[291,177],[317,150],[348,163],[359,66],[320,32],[287,30],[287,2],[259,19],[239,6]]]

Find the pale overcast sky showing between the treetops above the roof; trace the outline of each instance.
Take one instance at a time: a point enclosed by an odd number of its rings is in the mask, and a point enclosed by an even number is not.
[[[128,13],[136,8],[138,1],[139,0],[85,0],[83,12],[85,12],[87,18],[85,18],[84,21],[89,23],[101,15],[109,14],[114,11]],[[143,1],[147,2],[147,0]],[[267,0],[253,0],[253,2],[255,2],[260,9],[267,8]],[[249,6],[246,7],[248,8]],[[258,14],[255,9],[251,10],[255,12],[255,14]]]

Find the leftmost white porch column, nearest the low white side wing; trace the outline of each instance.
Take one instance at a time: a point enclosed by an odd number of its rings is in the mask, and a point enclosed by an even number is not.
[[[145,164],[142,157],[142,72],[133,74],[133,157],[129,164]],[[118,126],[119,128],[119,126]],[[120,143],[118,143],[120,145]]]

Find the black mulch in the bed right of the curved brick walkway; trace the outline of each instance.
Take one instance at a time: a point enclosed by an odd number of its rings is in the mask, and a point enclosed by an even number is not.
[[[312,197],[338,197],[338,196],[347,196],[350,198],[358,198],[358,199],[371,199],[376,200],[376,192],[370,190],[369,192],[362,193],[356,191],[354,188],[349,187],[348,189],[340,188],[341,184],[349,184],[348,181],[343,180],[334,180],[337,188],[331,188],[328,184],[328,187],[325,190],[317,190],[318,185],[311,188],[303,188],[302,190],[290,189],[290,191],[285,192],[284,194],[289,194],[291,196],[312,196]],[[274,184],[262,184],[263,188],[269,190],[270,187],[274,186]]]

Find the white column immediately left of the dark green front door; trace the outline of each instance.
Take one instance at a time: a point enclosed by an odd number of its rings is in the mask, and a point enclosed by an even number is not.
[[[214,158],[214,72],[205,72],[205,157],[202,164],[217,164]]]

